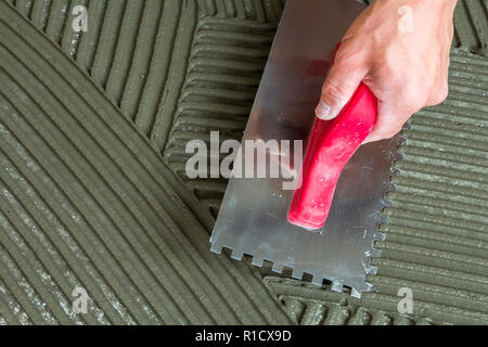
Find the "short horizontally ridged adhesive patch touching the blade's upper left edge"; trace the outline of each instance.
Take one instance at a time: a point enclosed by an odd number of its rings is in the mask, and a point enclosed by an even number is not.
[[[220,131],[220,141],[241,140],[274,36],[270,24],[218,17],[198,22],[185,85],[175,114],[165,157],[196,196],[216,216],[227,181],[189,180],[185,153],[192,139]]]

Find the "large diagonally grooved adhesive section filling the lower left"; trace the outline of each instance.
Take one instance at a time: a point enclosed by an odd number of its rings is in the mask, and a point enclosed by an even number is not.
[[[249,267],[208,252],[208,216],[146,139],[67,55],[0,10],[0,307],[13,297],[34,323],[287,322]],[[77,285],[89,314],[72,311]]]

